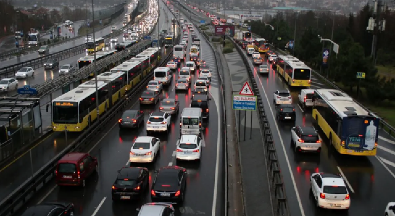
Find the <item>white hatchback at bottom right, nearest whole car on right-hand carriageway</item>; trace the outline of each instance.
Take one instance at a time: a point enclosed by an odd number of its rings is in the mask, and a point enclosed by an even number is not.
[[[340,175],[313,173],[310,177],[310,190],[318,208],[350,208],[350,194]]]

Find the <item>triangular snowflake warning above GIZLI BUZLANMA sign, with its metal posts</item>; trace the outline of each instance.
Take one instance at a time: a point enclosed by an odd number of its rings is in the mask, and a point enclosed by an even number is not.
[[[239,110],[239,141],[240,141],[240,116],[241,110],[244,110],[244,141],[246,140],[246,119],[247,111],[256,111],[256,96],[251,90],[248,82],[245,82],[238,95],[233,95],[233,109]],[[252,112],[250,122],[250,139],[252,139]]]

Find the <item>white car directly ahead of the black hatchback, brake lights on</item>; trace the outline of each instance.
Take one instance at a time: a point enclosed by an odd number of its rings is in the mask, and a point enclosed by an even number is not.
[[[129,152],[130,163],[150,163],[155,160],[160,140],[155,137],[137,137]]]

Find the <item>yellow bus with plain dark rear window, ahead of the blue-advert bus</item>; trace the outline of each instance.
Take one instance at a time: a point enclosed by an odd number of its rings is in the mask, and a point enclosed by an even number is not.
[[[277,72],[290,86],[311,86],[311,69],[293,56],[277,56]]]

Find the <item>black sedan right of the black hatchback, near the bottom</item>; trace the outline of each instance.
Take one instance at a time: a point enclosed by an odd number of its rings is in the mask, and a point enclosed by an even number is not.
[[[186,189],[186,169],[179,166],[168,166],[155,172],[157,174],[151,187],[151,201],[182,203]]]

